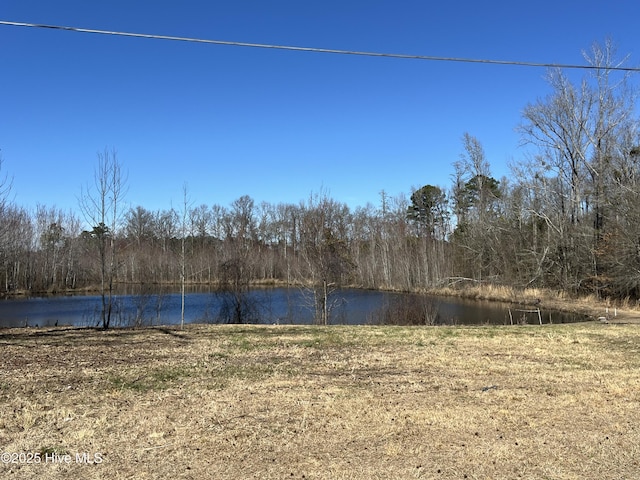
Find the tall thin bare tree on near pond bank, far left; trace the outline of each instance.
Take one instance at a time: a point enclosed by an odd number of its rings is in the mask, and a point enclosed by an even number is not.
[[[80,209],[90,224],[88,236],[93,240],[100,262],[100,296],[102,328],[111,325],[113,289],[116,280],[116,235],[122,220],[122,202],[126,195],[126,176],[115,150],[98,152],[93,185],[83,188]]]

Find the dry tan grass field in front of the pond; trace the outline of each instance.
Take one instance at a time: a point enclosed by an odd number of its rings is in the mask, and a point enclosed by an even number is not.
[[[22,329],[0,344],[0,478],[640,471],[637,325]]]

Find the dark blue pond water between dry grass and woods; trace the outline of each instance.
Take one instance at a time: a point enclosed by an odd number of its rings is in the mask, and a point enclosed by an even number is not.
[[[185,323],[226,323],[233,297],[192,291],[185,296]],[[243,298],[251,306],[249,321],[263,324],[311,324],[314,302],[298,288],[254,289]],[[100,296],[73,295],[0,300],[0,327],[98,326]],[[511,308],[511,316],[509,310]],[[508,325],[568,323],[584,316],[558,312],[520,312],[521,307],[452,297],[344,289],[330,302],[330,323],[419,325]],[[181,296],[177,292],[122,294],[114,297],[112,326],[174,325],[180,323]]]

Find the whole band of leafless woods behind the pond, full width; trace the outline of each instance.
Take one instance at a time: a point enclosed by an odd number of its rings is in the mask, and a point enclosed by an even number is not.
[[[585,58],[593,68],[582,78],[550,70],[549,95],[523,106],[524,148],[509,178],[494,178],[481,141],[464,133],[451,185],[425,178],[408,195],[383,191],[355,209],[325,192],[297,204],[244,195],[197,206],[185,192],[182,209],[125,207],[126,166],[105,151],[78,213],[0,204],[1,290],[110,292],[184,279],[237,293],[283,282],[326,300],[341,285],[420,290],[464,281],[638,298],[636,99],[611,43]],[[433,161],[442,159],[425,159]]]

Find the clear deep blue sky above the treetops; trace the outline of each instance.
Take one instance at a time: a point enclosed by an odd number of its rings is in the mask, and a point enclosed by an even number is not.
[[[640,64],[637,0],[3,0],[0,20],[239,42],[584,63],[611,37]],[[0,25],[0,149],[15,201],[77,208],[114,148],[131,206],[350,206],[448,187],[469,132],[495,177],[523,155],[543,68],[367,58]]]

